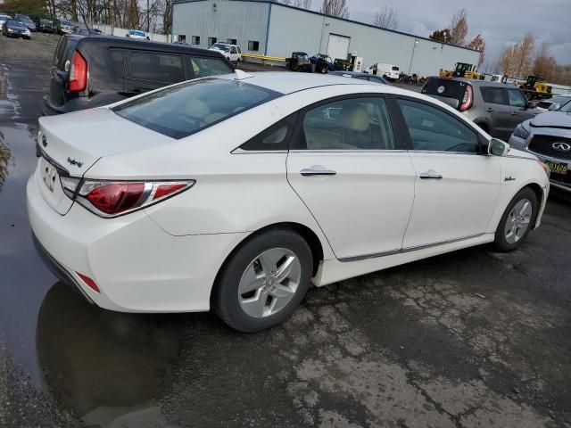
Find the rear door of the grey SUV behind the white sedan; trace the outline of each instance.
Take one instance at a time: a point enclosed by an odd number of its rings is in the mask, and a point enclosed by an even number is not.
[[[508,91],[500,86],[480,86],[480,92],[484,99],[484,111],[490,135],[507,140],[515,128],[511,125]]]

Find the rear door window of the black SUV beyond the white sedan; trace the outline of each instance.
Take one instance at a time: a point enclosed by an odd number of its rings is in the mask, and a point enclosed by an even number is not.
[[[131,52],[128,62],[131,78],[164,83],[177,83],[185,80],[185,69],[180,55]]]

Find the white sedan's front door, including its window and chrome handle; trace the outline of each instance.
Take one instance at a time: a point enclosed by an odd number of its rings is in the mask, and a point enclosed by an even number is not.
[[[476,130],[450,112],[406,99],[397,103],[409,130],[417,175],[403,248],[484,234],[500,193],[498,158],[479,154]]]

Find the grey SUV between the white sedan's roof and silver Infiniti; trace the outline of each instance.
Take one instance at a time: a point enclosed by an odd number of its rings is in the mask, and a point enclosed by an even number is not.
[[[541,113],[517,88],[469,78],[426,80],[422,93],[458,109],[491,136],[508,140],[517,125]]]

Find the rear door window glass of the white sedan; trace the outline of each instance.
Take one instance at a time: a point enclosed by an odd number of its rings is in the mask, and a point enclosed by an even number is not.
[[[352,98],[305,114],[298,150],[393,150],[393,128],[384,98]]]

